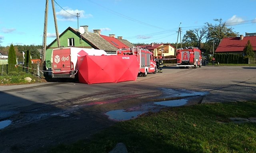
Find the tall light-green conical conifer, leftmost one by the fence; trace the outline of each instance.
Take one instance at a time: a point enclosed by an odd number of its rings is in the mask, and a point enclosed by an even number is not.
[[[15,67],[17,64],[16,60],[16,52],[14,50],[13,44],[10,45],[9,53],[8,53],[8,73],[12,71],[18,71],[18,69]]]

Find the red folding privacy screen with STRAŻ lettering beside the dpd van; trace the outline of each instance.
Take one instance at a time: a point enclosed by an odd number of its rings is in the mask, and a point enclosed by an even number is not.
[[[78,67],[79,82],[86,84],[135,81],[139,70],[135,55],[86,55],[78,57]]]

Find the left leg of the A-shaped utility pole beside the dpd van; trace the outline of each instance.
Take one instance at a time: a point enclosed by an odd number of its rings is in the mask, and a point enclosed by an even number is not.
[[[46,0],[45,4],[45,12],[44,12],[44,37],[43,37],[43,48],[41,53],[41,70],[44,70],[45,55],[46,55],[46,38],[47,38],[47,21],[48,21],[48,0]]]

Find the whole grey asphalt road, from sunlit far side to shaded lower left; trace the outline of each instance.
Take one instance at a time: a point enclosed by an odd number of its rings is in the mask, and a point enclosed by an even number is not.
[[[12,121],[0,128],[0,152],[73,143],[114,124],[106,112],[157,110],[152,102],[177,99],[188,100],[187,105],[256,100],[256,67],[168,66],[128,82],[0,86],[0,123]]]

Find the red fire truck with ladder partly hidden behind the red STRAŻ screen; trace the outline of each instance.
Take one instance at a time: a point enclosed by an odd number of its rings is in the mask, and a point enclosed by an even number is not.
[[[141,47],[122,48],[116,51],[116,55],[136,55],[139,63],[138,75],[146,77],[148,73],[156,73],[156,61],[152,52]]]

